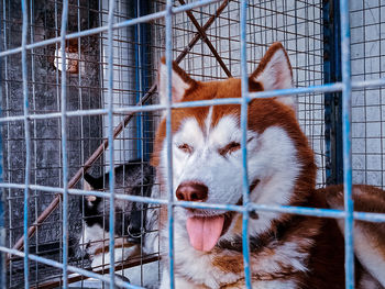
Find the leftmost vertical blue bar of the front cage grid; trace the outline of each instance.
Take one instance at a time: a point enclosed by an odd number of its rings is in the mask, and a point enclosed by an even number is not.
[[[22,53],[21,53],[21,64],[22,64],[22,75],[23,75],[23,113],[24,113],[24,137],[25,137],[25,176],[24,176],[24,222],[23,222],[23,233],[24,233],[24,288],[30,288],[30,241],[28,237],[29,230],[29,201],[30,192],[28,185],[30,185],[31,175],[31,136],[30,136],[30,124],[29,124],[29,88],[28,88],[28,68],[26,68],[26,41],[28,41],[28,8],[26,0],[22,1],[22,12],[23,12],[23,26],[22,26]]]

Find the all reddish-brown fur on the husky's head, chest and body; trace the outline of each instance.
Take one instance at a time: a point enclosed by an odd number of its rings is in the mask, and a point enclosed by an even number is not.
[[[263,71],[267,62],[273,54],[283,48],[282,44],[274,44],[262,59],[258,68],[252,74],[249,79],[249,86],[252,91],[263,90],[263,85],[254,81],[255,77]],[[288,57],[286,55],[288,60]],[[289,64],[289,62],[288,62]],[[241,81],[240,79],[230,78],[224,81],[199,82],[191,80],[186,73],[174,64],[174,71],[187,82],[190,88],[185,92],[182,102],[210,100],[222,98],[240,98]],[[186,118],[195,118],[205,130],[205,120],[208,115],[209,108],[184,108],[172,110],[172,131],[175,133],[183,120]],[[240,116],[240,105],[216,105],[212,110],[211,125],[217,125],[219,120],[224,115]],[[316,171],[314,152],[308,145],[305,134],[301,132],[296,120],[295,112],[292,108],[283,104],[276,99],[254,99],[249,104],[248,111],[248,127],[257,133],[263,133],[267,127],[279,126],[284,129],[287,135],[294,142],[297,149],[297,159],[301,164],[300,173],[295,184],[295,194],[289,200],[289,205],[304,205],[312,208],[329,208],[327,199],[338,199],[341,194],[341,187],[331,187],[327,190],[315,190]],[[152,157],[152,165],[160,166],[160,153],[166,135],[166,123],[163,120],[158,126],[155,138],[155,149]],[[288,168],[289,169],[289,168]],[[161,177],[161,184],[164,184],[161,171],[157,169]],[[384,212],[385,194],[382,190],[373,187],[358,187],[370,193],[360,197],[363,201],[356,204],[356,209],[372,212]],[[365,202],[376,203],[375,205],[365,207]],[[166,214],[161,214],[161,225],[166,223]],[[233,234],[241,234],[242,223],[241,215],[234,215]],[[375,231],[374,225],[367,225],[369,230]],[[385,224],[377,231],[378,243],[381,235],[384,236]],[[279,235],[279,237],[277,237]],[[342,289],[344,288],[344,243],[343,236],[332,219],[318,219],[310,216],[300,216],[293,214],[283,214],[279,219],[274,220],[271,229],[258,235],[258,242],[264,246],[254,248],[251,252],[251,267],[253,280],[273,280],[273,279],[293,279],[299,282],[299,288],[316,288],[316,289]],[[306,266],[308,273],[300,273],[287,264],[282,264],[279,273],[265,271],[258,267],[258,262],[262,257],[273,256],[277,246],[293,242],[300,246],[299,252],[309,253]],[[385,246],[384,246],[385,247]],[[384,251],[385,252],[385,251]],[[215,247],[212,251],[212,266],[224,273],[242,274],[243,256],[242,252],[230,251],[227,248]],[[384,255],[385,256],[385,255]],[[178,273],[178,268],[176,268]],[[356,278],[361,278],[361,267],[358,264]],[[233,285],[227,285],[222,288],[244,287],[244,280],[240,280]]]

